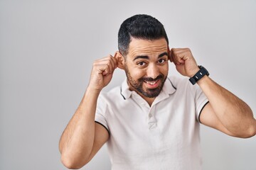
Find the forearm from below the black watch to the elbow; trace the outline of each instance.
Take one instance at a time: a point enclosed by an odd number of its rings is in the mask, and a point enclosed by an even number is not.
[[[227,130],[238,137],[255,135],[256,120],[245,102],[209,77],[203,77],[198,81],[198,85],[206,94],[214,113]]]

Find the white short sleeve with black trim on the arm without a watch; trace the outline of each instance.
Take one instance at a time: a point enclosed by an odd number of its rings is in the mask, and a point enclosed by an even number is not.
[[[109,127],[107,125],[106,111],[107,111],[107,103],[105,102],[104,98],[100,94],[99,98],[97,99],[95,122],[100,123],[100,125],[104,126],[107,129],[107,131],[110,132]]]

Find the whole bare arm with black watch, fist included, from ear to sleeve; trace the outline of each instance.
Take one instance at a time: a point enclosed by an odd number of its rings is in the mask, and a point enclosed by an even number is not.
[[[170,60],[184,76],[192,77],[199,70],[189,49],[172,49]],[[235,137],[256,134],[256,120],[245,102],[207,76],[197,83],[209,100],[201,112],[201,123]]]

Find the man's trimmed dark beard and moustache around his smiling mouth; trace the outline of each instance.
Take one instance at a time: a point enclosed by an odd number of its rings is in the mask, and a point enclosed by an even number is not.
[[[156,98],[156,96],[159,96],[161,89],[163,89],[164,82],[166,81],[166,77],[164,77],[164,74],[159,74],[156,79],[153,79],[151,77],[142,77],[138,80],[135,80],[131,77],[131,74],[129,73],[129,69],[127,66],[125,66],[125,74],[127,75],[127,81],[130,86],[132,86],[136,91],[139,91],[143,96],[147,98]],[[145,81],[161,81],[158,87],[155,89],[148,89],[143,86]]]

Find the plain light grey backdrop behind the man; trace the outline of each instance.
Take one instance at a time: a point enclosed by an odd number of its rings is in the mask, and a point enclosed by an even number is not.
[[[92,62],[117,50],[137,13],[164,24],[210,77],[256,112],[256,1],[0,0],[0,169],[66,169],[58,141],[85,92]],[[169,75],[179,76],[171,64]],[[107,91],[124,80],[114,72]],[[201,125],[203,169],[255,170],[256,137]],[[106,146],[82,169],[110,169]]]

